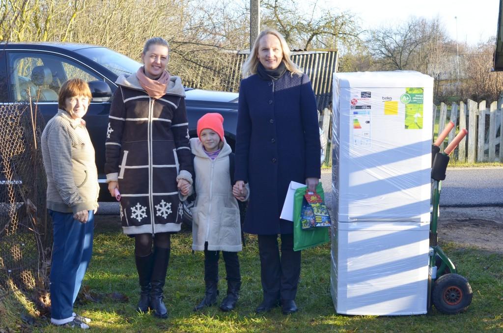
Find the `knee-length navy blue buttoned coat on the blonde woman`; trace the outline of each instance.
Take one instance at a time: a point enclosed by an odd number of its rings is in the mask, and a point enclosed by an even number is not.
[[[235,150],[234,179],[250,187],[243,231],[293,233],[293,222],[280,219],[288,186],[320,177],[318,113],[306,74],[241,80]]]

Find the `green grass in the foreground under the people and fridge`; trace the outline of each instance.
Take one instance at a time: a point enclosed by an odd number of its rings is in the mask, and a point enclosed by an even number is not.
[[[76,311],[93,319],[92,330],[124,332],[472,332],[503,329],[503,255],[474,248],[445,244],[444,249],[466,276],[473,290],[473,302],[466,313],[444,315],[435,309],[416,316],[346,316],[333,308],[329,291],[329,244],[302,253],[301,281],[297,295],[300,311],[285,316],[280,309],[257,315],[255,307],[262,300],[260,262],[257,238],[246,236],[247,244],[240,253],[243,286],[235,311],[223,313],[216,306],[200,313],[192,308],[204,293],[203,254],[191,252],[190,233],[172,238],[172,260],[164,290],[169,311],[166,320],[155,319],[149,313],[139,314],[138,283],[133,260],[133,239],[115,230],[98,230],[95,250],[84,285],[95,292],[124,293],[126,303],[104,299],[76,306]],[[225,270],[220,265],[221,293],[225,293]],[[220,299],[223,295],[221,294]],[[16,327],[12,323],[10,327]],[[3,327],[0,327],[0,331]],[[63,332],[47,325],[33,327],[35,331]]]

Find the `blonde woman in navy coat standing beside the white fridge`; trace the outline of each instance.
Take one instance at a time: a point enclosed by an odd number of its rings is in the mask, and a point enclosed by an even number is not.
[[[288,314],[297,311],[300,251],[293,251],[293,222],[280,214],[291,181],[313,191],[320,178],[316,100],[308,76],[291,61],[285,39],[274,30],[259,35],[243,76],[234,179],[237,192],[249,183],[243,230],[259,238],[264,299],[256,311],[281,304]]]

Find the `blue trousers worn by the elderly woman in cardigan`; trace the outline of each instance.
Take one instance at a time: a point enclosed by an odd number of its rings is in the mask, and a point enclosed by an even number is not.
[[[94,213],[87,223],[73,219],[72,213],[49,210],[54,227],[51,263],[51,318],[73,317],[73,303],[93,253]],[[69,320],[68,320],[69,321]]]

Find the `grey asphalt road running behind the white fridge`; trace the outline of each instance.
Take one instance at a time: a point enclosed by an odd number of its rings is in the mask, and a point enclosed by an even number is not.
[[[321,173],[325,201],[331,204],[330,170]],[[503,167],[448,169],[442,182],[442,207],[503,207]],[[98,214],[119,214],[117,202],[101,202]],[[503,219],[503,217],[502,217]]]

